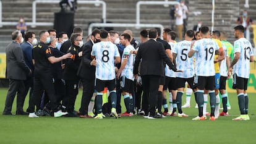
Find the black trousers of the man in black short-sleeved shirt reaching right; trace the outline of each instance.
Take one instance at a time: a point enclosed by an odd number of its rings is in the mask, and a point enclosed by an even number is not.
[[[43,95],[43,91],[47,93],[49,96],[49,100],[51,101],[51,108],[54,112],[58,111],[58,103],[55,96],[55,90],[54,90],[54,83],[53,83],[53,77],[51,72],[45,72],[44,74],[38,74],[35,75],[34,80],[34,91],[32,96],[33,106],[30,106],[28,109],[28,112],[34,112],[35,111],[35,105],[36,105],[36,111],[40,109],[40,103],[41,103],[41,96]]]

